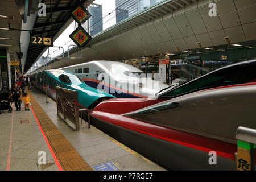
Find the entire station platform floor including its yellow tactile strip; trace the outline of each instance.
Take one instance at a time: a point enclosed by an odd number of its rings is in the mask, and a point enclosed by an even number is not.
[[[91,126],[74,131],[57,116],[56,102],[32,87],[31,110],[0,114],[0,170],[164,171]],[[44,158],[45,156],[45,158]],[[45,161],[44,161],[45,160]],[[42,164],[42,162],[45,162]]]

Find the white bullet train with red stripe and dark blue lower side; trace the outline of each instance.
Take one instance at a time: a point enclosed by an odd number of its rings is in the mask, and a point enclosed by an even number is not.
[[[146,77],[138,68],[115,61],[90,61],[62,69],[73,72],[89,86],[119,98],[154,97],[169,86]]]

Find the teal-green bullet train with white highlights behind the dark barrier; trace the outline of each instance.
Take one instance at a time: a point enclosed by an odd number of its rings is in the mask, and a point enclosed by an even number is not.
[[[31,75],[31,81],[32,84],[42,90],[42,92],[45,93],[47,89],[48,96],[55,101],[56,86],[76,90],[78,92],[79,104],[87,109],[93,109],[93,107],[98,105],[101,101],[115,98],[111,94],[86,85],[79,77],[73,75],[71,72],[59,69],[36,72]]]

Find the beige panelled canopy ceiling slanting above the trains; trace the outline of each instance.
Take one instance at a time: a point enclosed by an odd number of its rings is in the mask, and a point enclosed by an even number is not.
[[[232,45],[235,43],[254,43],[255,0],[214,1],[216,17],[208,14],[211,2],[164,1],[94,36],[82,52],[71,51],[71,57],[76,60],[58,61],[55,68],[58,64],[63,67],[92,60],[129,60],[196,48],[199,51],[206,51],[204,48],[208,47],[219,49],[227,40],[228,48],[236,47]]]

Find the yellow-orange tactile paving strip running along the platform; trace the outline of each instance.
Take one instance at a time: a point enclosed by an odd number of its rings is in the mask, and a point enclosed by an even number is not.
[[[52,147],[59,163],[64,171],[92,171],[92,168],[85,162],[81,155],[75,150],[67,138],[60,132],[60,130],[53,124],[48,115],[44,112],[42,107],[36,102],[34,96],[27,90],[31,104],[38,118],[38,121],[46,135],[49,144]]]

